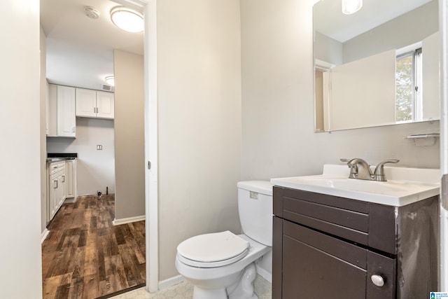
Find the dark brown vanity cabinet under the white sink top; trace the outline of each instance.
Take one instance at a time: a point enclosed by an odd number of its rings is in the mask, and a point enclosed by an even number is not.
[[[426,298],[437,290],[437,202],[274,186],[272,298]]]

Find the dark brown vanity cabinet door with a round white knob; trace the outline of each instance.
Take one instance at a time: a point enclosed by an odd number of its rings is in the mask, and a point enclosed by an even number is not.
[[[282,243],[283,299],[395,298],[395,259],[289,221]]]

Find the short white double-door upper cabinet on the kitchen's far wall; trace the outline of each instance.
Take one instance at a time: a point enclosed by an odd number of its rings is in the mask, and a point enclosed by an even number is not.
[[[113,93],[76,88],[76,116],[113,119]]]

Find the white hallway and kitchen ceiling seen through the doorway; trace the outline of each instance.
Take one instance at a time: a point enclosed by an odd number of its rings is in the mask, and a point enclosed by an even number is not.
[[[113,75],[113,50],[144,54],[144,34],[125,32],[111,22],[109,0],[41,0],[49,83],[102,90]],[[84,7],[99,11],[94,20]]]

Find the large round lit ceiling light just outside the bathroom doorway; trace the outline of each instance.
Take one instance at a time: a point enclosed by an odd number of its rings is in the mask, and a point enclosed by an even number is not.
[[[143,15],[125,6],[116,6],[111,10],[111,20],[118,28],[127,32],[142,32]]]

